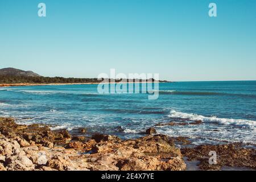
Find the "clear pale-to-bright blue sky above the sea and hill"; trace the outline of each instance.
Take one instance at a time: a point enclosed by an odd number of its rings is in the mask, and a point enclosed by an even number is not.
[[[46,4],[46,17],[38,4]],[[217,17],[209,17],[209,3]],[[255,0],[0,1],[0,68],[42,76],[159,73],[256,80]]]

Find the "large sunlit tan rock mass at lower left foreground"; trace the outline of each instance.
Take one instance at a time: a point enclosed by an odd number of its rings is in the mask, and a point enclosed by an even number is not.
[[[0,170],[184,170],[181,152],[166,135],[121,140],[73,137],[49,126],[0,118]],[[72,140],[71,140],[72,138]],[[58,146],[57,146],[58,145]],[[60,146],[59,146],[60,145]]]

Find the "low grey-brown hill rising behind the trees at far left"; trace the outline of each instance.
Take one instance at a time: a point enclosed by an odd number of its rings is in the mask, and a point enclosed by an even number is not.
[[[32,71],[23,71],[15,68],[0,69],[0,76],[25,76],[25,77],[40,77],[40,75]]]

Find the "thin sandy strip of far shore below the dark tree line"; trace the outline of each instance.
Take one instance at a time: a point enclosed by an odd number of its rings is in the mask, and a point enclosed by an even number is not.
[[[162,81],[142,81],[142,82],[88,82],[88,83],[56,83],[56,84],[29,84],[29,83],[21,83],[21,84],[0,84],[0,87],[10,87],[10,86],[43,86],[43,85],[97,85],[97,84],[146,84],[146,83],[166,83]]]

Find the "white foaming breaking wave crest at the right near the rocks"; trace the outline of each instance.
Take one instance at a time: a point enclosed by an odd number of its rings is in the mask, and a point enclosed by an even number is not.
[[[205,117],[203,115],[181,113],[175,110],[171,110],[170,118],[183,118],[190,119],[191,121],[201,120],[208,123],[218,123],[220,125],[233,125],[237,127],[254,129],[256,127],[256,121],[247,119],[230,119],[230,118],[217,118],[217,117]]]

